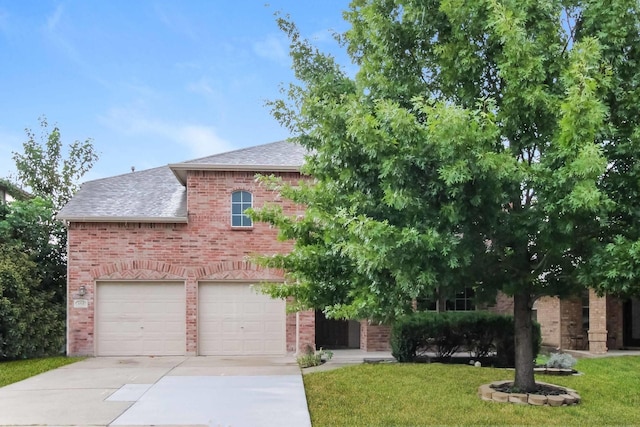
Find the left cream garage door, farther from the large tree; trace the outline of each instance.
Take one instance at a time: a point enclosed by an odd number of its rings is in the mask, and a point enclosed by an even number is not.
[[[98,356],[175,356],[186,350],[181,282],[102,282],[96,295]]]

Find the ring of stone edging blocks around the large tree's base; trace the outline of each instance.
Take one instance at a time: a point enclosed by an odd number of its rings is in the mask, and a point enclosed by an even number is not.
[[[540,381],[536,381],[536,384],[559,388],[564,390],[565,393],[558,396],[545,396],[543,394],[534,393],[503,393],[491,387],[501,386],[512,382],[513,380],[507,380],[494,381],[490,384],[483,384],[478,387],[478,396],[480,396],[482,400],[490,402],[515,403],[535,406],[569,406],[577,405],[578,403],[580,403],[580,395],[575,390],[555,384],[543,383]]]

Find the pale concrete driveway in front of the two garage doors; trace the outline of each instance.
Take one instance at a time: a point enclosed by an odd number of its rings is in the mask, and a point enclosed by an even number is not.
[[[0,388],[0,425],[311,426],[293,357],[98,357]]]

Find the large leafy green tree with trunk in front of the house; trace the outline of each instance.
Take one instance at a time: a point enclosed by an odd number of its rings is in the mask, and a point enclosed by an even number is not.
[[[272,294],[391,320],[438,292],[505,292],[515,385],[533,390],[537,297],[602,276],[637,291],[638,8],[355,0],[340,35],[354,76],[279,19],[298,81],[273,112],[313,181],[280,188],[304,217],[256,214],[295,239],[263,260],[290,275]]]

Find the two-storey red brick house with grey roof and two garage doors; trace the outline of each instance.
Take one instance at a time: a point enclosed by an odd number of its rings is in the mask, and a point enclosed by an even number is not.
[[[278,241],[276,229],[253,224],[243,211],[265,203],[280,204],[292,215],[303,210],[255,175],[298,182],[305,179],[304,154],[282,141],[83,184],[58,214],[68,224],[67,353],[388,350],[386,326],[327,320],[313,311],[287,314],[284,301],[255,289],[263,281],[283,280],[283,272],[256,266],[249,257],[286,252],[291,243]],[[467,290],[439,308],[475,310],[472,301]],[[590,295],[588,336],[581,301],[546,298],[535,308],[545,343],[581,348],[590,341],[592,351],[600,352],[607,340],[616,348],[623,343],[622,316],[612,316],[622,313],[616,304]],[[488,309],[512,313],[512,300],[502,296]],[[637,333],[640,322],[634,319],[629,324]]]

